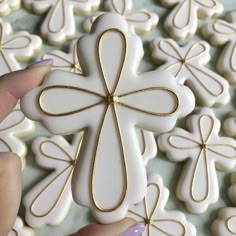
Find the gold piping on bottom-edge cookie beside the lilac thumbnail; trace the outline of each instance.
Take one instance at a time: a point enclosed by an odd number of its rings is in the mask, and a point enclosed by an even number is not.
[[[132,213],[133,215],[139,217],[142,219],[142,222],[145,223],[146,225],[146,230],[147,230],[147,236],[151,236],[152,233],[151,233],[151,227],[155,228],[156,230],[166,234],[167,236],[174,236],[172,234],[168,234],[167,232],[163,231],[162,229],[160,229],[159,227],[157,227],[154,223],[158,223],[158,222],[164,222],[164,221],[168,221],[168,222],[175,222],[179,225],[181,225],[181,228],[183,229],[183,232],[184,234],[182,234],[183,236],[186,235],[186,226],[182,223],[182,222],[178,222],[177,220],[174,220],[174,219],[160,219],[160,220],[154,220],[153,219],[153,215],[154,213],[156,212],[157,208],[158,208],[158,204],[160,203],[160,198],[161,198],[161,195],[162,195],[162,192],[161,192],[161,188],[158,184],[156,183],[149,183],[147,185],[147,188],[149,188],[150,186],[154,186],[156,189],[157,189],[157,192],[158,192],[158,197],[155,201],[155,203],[153,204],[155,207],[154,209],[151,211],[151,214],[149,214],[148,212],[148,207],[147,207],[147,195],[144,197],[143,199],[143,204],[144,204],[144,213],[145,213],[145,216],[142,216],[141,214],[137,213],[137,212],[134,212],[133,210],[129,210],[130,213]]]

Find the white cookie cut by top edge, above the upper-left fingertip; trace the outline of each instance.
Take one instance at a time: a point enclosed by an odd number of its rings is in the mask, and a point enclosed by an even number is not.
[[[47,16],[41,34],[52,44],[62,44],[74,37],[75,13],[89,14],[97,9],[100,0],[24,0],[26,7]]]

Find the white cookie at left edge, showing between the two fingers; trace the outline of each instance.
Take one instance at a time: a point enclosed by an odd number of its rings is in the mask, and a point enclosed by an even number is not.
[[[25,117],[19,107],[15,109],[0,122],[0,152],[14,152],[25,166],[26,145],[19,137],[31,132],[34,128],[33,122]]]

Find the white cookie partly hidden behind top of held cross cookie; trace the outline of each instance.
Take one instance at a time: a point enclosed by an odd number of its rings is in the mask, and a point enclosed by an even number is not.
[[[131,30],[134,30],[137,34],[148,33],[159,21],[159,17],[156,14],[150,13],[145,9],[132,10],[132,0],[106,0],[104,5],[105,11],[114,12],[123,16]],[[85,31],[90,32],[91,26],[96,18],[105,13],[98,11],[88,18],[84,22]]]

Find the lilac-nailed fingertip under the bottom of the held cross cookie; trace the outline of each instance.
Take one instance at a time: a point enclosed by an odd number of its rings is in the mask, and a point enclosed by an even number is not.
[[[109,225],[90,224],[70,236],[140,236],[144,230],[144,224],[126,218]]]

